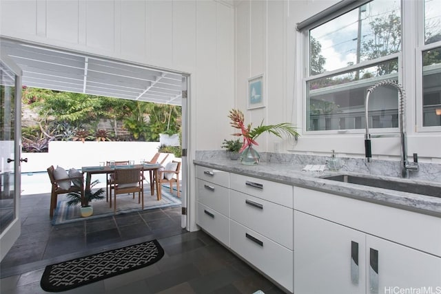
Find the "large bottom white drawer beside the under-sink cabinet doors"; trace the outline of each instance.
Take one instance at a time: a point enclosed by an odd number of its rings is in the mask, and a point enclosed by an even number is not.
[[[293,291],[293,251],[230,220],[231,249],[272,280]]]

